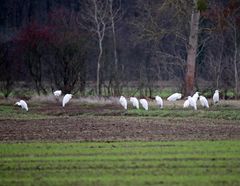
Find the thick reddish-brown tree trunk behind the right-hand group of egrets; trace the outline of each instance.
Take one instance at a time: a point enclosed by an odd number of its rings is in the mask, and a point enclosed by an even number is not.
[[[196,55],[198,48],[198,30],[199,30],[200,12],[197,9],[197,1],[194,0],[190,22],[189,46],[187,51],[187,70],[185,75],[185,95],[191,95],[194,88],[194,75],[196,66]]]

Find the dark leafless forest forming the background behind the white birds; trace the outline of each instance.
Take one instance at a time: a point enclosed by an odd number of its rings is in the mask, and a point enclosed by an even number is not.
[[[239,95],[238,0],[1,0],[0,88]],[[165,82],[165,83],[163,83]]]

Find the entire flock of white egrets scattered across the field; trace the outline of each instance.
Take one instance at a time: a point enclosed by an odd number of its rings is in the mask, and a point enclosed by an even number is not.
[[[59,98],[62,95],[61,90],[56,90],[53,92],[54,96],[56,98]],[[65,107],[65,105],[71,100],[72,94],[66,94],[63,97],[62,100],[62,107]],[[182,98],[181,93],[174,93],[171,96],[167,98],[170,102],[175,102]],[[188,96],[187,100],[183,103],[183,108],[192,107],[194,110],[197,110],[197,100],[199,99],[201,105],[203,107],[209,108],[208,100],[204,96],[199,96],[199,92],[196,92],[193,96]],[[156,104],[162,109],[163,108],[163,99],[160,96],[155,97]],[[132,103],[133,107],[139,109],[139,105],[145,109],[148,110],[148,101],[146,99],[138,99],[136,97],[130,97],[130,102]],[[219,102],[219,91],[216,90],[213,95],[213,103],[216,104]],[[119,103],[123,106],[125,110],[127,110],[128,102],[127,99],[124,96],[121,96],[119,99]],[[140,104],[139,104],[140,103]],[[15,103],[15,105],[21,106],[22,109],[25,109],[28,111],[28,105],[26,101],[20,100]]]

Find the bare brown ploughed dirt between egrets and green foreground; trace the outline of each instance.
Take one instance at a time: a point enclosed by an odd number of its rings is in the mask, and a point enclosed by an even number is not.
[[[72,104],[63,109],[58,104],[42,104],[33,107],[31,112],[54,118],[0,120],[0,141],[240,139],[239,121],[130,117],[124,116],[124,111],[117,105],[81,108]]]

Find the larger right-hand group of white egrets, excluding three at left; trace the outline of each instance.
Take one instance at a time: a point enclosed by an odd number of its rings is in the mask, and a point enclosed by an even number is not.
[[[182,98],[181,93],[174,93],[167,98],[170,102],[175,102]],[[192,107],[194,110],[197,110],[197,101],[200,101],[201,105],[205,108],[209,108],[208,100],[204,96],[199,96],[199,92],[196,92],[193,96],[188,96],[187,100],[183,103],[183,108]],[[162,109],[163,108],[163,99],[160,96],[155,96],[156,104]],[[124,96],[121,96],[119,99],[120,104],[124,109],[127,110],[127,99]],[[148,110],[148,102],[146,99],[138,99],[136,97],[130,97],[130,102],[133,107],[139,109],[139,102],[145,110]],[[216,104],[219,102],[219,91],[215,90],[213,94],[213,103]]]

